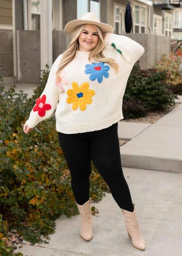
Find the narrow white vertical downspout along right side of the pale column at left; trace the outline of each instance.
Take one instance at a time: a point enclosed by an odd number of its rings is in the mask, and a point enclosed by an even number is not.
[[[52,0],[48,0],[48,61],[52,67]]]

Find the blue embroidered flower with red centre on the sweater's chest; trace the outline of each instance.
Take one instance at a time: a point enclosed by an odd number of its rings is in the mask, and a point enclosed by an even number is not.
[[[85,68],[85,73],[91,74],[91,81],[94,81],[97,78],[97,81],[101,83],[103,80],[103,76],[106,78],[109,77],[109,73],[107,71],[110,69],[110,67],[108,65],[104,65],[104,62],[87,64],[85,65]]]

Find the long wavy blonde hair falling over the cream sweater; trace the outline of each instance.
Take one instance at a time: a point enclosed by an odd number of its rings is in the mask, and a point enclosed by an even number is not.
[[[80,25],[76,28],[75,32],[73,32],[71,43],[68,45],[68,49],[63,53],[61,62],[58,66],[57,72],[56,72],[56,80],[60,78],[61,71],[75,58],[76,56],[76,50],[78,50],[79,41],[78,37],[80,36],[82,30],[87,26],[88,24]],[[101,28],[94,25],[96,27],[96,31],[98,32],[99,40],[96,44],[96,46],[91,50],[91,52],[88,55],[88,60],[91,63],[94,63],[91,59],[96,60],[97,62],[105,62],[108,63],[111,67],[113,67],[116,70],[115,75],[119,71],[119,65],[116,63],[116,61],[112,58],[106,58],[104,54],[102,53],[102,50],[104,48],[104,39],[102,37]]]

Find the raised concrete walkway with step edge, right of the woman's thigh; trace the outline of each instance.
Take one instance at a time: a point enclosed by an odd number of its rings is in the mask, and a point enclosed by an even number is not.
[[[120,148],[124,167],[182,173],[182,103]]]

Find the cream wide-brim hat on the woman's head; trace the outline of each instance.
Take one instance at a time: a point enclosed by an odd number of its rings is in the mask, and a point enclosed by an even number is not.
[[[84,13],[79,20],[73,20],[66,24],[65,32],[72,36],[76,28],[82,24],[94,24],[101,28],[102,33],[113,33],[114,29],[106,23],[102,23],[94,12]]]

